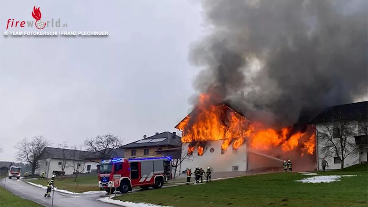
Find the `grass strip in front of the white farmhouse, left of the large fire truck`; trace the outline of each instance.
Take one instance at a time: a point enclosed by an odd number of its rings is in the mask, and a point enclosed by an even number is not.
[[[68,190],[76,193],[83,193],[87,191],[99,191],[98,178],[97,176],[81,176],[74,181],[75,178],[64,178],[56,177],[55,187],[58,189]],[[49,179],[39,179],[39,180],[27,180],[32,183],[47,186]]]

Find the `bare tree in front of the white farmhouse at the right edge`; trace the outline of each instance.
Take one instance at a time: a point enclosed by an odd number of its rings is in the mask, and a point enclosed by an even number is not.
[[[341,169],[345,159],[358,152],[354,136],[357,134],[357,120],[344,120],[341,111],[325,120],[318,130],[317,137],[321,145],[323,157],[338,157]]]

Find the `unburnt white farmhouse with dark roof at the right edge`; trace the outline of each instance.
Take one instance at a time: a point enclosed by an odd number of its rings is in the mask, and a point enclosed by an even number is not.
[[[327,170],[365,163],[368,157],[368,101],[333,106],[310,123],[316,130],[317,166],[322,158]]]

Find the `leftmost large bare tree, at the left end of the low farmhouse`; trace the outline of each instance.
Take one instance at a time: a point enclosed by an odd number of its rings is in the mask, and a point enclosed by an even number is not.
[[[29,162],[32,165],[32,175],[34,175],[36,169],[40,165],[40,158],[42,152],[49,145],[49,141],[43,136],[33,137],[31,141],[24,138],[22,141],[18,142],[15,147],[17,151],[17,159],[20,161]]]

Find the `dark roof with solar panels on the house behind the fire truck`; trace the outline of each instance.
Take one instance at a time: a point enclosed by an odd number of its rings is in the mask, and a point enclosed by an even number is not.
[[[158,140],[159,138],[165,140]],[[155,140],[157,139],[157,140]],[[146,141],[141,141],[146,140]],[[177,136],[176,133],[171,133],[169,131],[165,131],[159,134],[155,134],[151,137],[146,137],[144,139],[134,141],[129,144],[123,145],[121,148],[137,148],[137,147],[155,147],[155,146],[164,146],[164,145],[173,145],[173,146],[181,146],[181,137]]]

